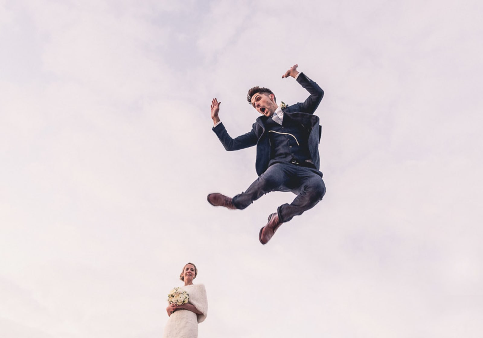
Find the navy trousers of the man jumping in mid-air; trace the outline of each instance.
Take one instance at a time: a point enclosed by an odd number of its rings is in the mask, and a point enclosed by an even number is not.
[[[290,204],[278,207],[281,222],[288,222],[292,217],[301,215],[317,204],[326,193],[322,173],[317,169],[300,167],[292,163],[271,165],[248,189],[233,197],[237,209],[245,209],[253,201],[271,191],[291,191],[297,197]]]

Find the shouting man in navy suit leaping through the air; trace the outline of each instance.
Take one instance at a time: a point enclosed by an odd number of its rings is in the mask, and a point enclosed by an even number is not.
[[[266,244],[282,223],[311,209],[326,192],[322,172],[319,171],[321,128],[319,118],[313,114],[324,91],[304,73],[298,65],[287,70],[282,78],[292,76],[307,89],[310,96],[302,103],[279,106],[268,88],[258,86],[248,91],[248,102],[263,116],[256,119],[252,129],[231,138],[218,117],[220,103],[212,100],[213,131],[226,150],[239,150],[256,145],[256,173],[258,178],[248,189],[233,198],[222,194],[209,194],[208,202],[228,209],[245,209],[270,191],[291,191],[297,195],[292,203],[278,207],[270,214],[268,223],[260,229],[259,239]]]

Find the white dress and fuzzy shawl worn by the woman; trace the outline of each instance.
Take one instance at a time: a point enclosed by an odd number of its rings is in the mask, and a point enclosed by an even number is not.
[[[168,318],[163,338],[198,338],[198,323],[205,320],[208,312],[208,300],[203,284],[184,285],[180,287],[188,293],[188,303],[202,312],[196,314],[189,310],[176,310]]]

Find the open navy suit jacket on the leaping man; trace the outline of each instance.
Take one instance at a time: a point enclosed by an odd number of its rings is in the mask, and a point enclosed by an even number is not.
[[[290,115],[292,121],[299,123],[307,130],[307,134],[309,135],[308,146],[310,155],[312,156],[313,164],[319,169],[319,141],[322,130],[319,125],[319,117],[314,115],[313,112],[315,112],[315,109],[319,106],[319,103],[324,96],[324,91],[304,73],[298,75],[297,82],[307,89],[310,96],[305,102],[299,102],[286,107],[283,110],[284,115]],[[270,139],[265,126],[265,121],[267,121],[267,119],[267,116],[258,117],[252,126],[252,130],[234,139],[228,135],[227,129],[223,123],[213,127],[214,133],[218,136],[218,139],[220,139],[221,143],[228,151],[240,150],[256,145],[255,169],[258,176],[267,170],[271,158]]]

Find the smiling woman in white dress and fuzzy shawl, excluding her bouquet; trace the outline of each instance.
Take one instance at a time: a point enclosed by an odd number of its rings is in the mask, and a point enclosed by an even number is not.
[[[197,338],[198,323],[205,320],[208,312],[208,301],[203,284],[193,284],[198,269],[193,263],[188,263],[180,274],[180,280],[185,286],[180,287],[189,295],[188,303],[183,305],[169,304],[168,323],[164,328],[163,338]]]

